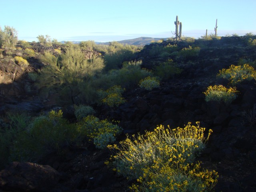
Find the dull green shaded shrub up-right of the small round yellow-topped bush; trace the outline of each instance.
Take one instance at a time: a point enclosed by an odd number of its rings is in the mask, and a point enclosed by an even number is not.
[[[154,74],[160,77],[162,80],[167,80],[173,78],[175,75],[181,73],[181,69],[176,67],[173,60],[168,60],[167,62],[161,63],[156,66],[153,70]]]

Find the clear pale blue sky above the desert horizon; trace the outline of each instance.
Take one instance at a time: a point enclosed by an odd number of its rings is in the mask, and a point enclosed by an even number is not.
[[[200,38],[256,34],[256,0],[0,0],[0,27],[18,39],[109,42],[138,37],[174,36],[176,16],[182,35]]]

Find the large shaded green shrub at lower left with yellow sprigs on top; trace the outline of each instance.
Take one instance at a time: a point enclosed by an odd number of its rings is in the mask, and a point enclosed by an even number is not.
[[[51,111],[35,118],[30,126],[15,140],[11,160],[38,161],[50,152],[58,152],[62,146],[76,141],[75,124],[62,117],[62,111]]]

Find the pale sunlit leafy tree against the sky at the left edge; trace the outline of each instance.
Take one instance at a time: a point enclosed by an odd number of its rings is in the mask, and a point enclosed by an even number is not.
[[[18,42],[17,31],[10,27],[4,26],[4,31],[0,28],[0,47],[11,49],[15,48],[15,45]]]

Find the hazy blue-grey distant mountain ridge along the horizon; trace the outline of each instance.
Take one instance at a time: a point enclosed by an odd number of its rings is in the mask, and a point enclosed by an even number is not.
[[[167,40],[167,38],[152,38],[152,37],[139,37],[135,39],[128,39],[128,40],[122,40],[117,41],[121,44],[127,44],[127,45],[148,45],[152,41],[158,41],[158,40]],[[61,43],[65,43],[66,41],[61,41]],[[81,41],[72,41],[74,44],[79,44]],[[109,42],[95,42],[96,44],[102,44],[102,45],[108,45]]]

